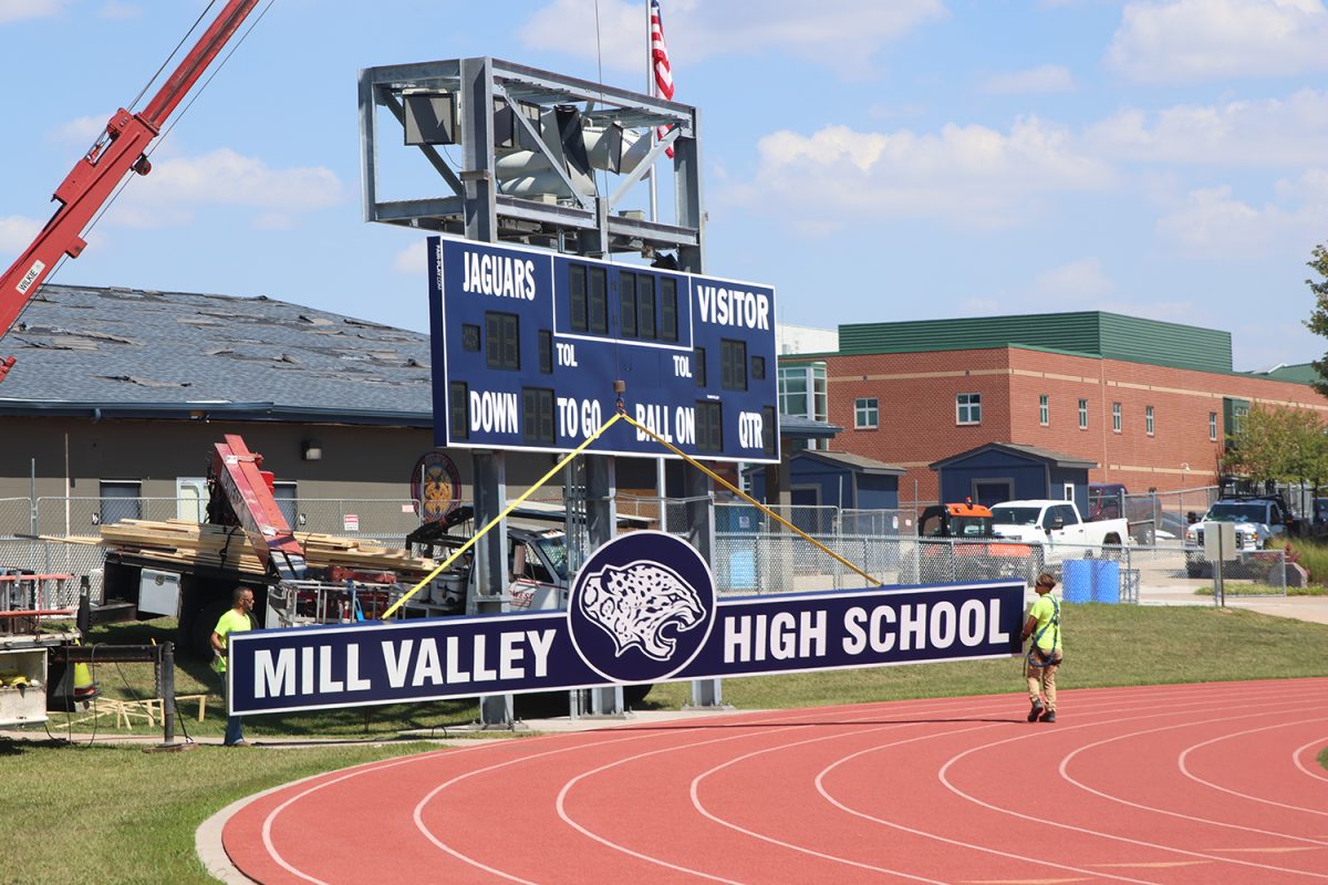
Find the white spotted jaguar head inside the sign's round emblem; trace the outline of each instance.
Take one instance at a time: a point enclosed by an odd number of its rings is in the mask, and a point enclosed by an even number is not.
[[[622,657],[637,647],[655,661],[668,661],[677,634],[705,624],[696,589],[657,563],[606,565],[586,579],[580,613],[614,640]]]

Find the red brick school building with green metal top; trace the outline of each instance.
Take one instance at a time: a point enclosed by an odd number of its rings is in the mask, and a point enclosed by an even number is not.
[[[935,500],[928,464],[991,442],[1081,456],[1131,492],[1212,486],[1251,405],[1328,417],[1297,368],[1234,372],[1228,332],[1102,312],[842,325],[837,353],[785,358],[781,382],[822,364],[834,448],[904,467],[903,500]]]

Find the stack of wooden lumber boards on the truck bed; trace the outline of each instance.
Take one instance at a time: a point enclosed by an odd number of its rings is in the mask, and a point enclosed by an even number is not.
[[[373,541],[316,532],[295,532],[311,568],[343,565],[376,572],[396,572],[398,579],[417,580],[433,571],[432,559],[408,551],[381,547]],[[118,547],[135,557],[175,568],[208,565],[263,575],[263,563],[238,525],[212,525],[185,520],[126,519],[101,527],[104,547]]]

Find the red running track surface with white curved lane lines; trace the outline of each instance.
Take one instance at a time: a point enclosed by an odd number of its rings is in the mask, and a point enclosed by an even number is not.
[[[716,716],[320,775],[224,827],[262,882],[1328,881],[1328,679]]]

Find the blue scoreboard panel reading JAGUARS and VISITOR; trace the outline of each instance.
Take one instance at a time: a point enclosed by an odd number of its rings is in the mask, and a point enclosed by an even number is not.
[[[570,451],[618,407],[681,451],[780,460],[774,289],[429,238],[438,446]],[[669,455],[627,422],[588,451]]]

